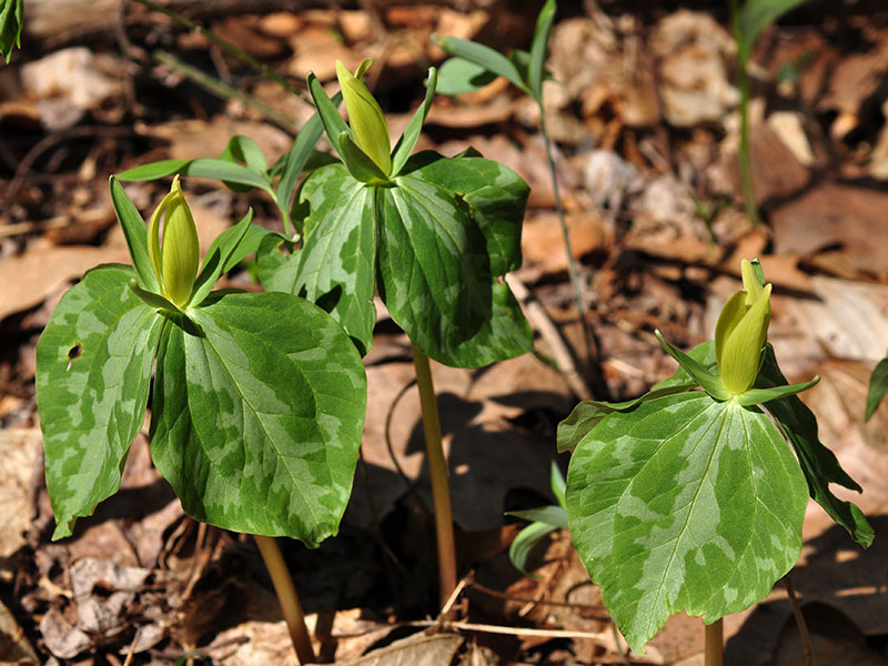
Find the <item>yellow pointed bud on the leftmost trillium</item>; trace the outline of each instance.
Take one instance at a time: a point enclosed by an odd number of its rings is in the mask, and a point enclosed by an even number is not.
[[[176,307],[188,305],[198,274],[200,248],[198,229],[178,175],[173,179],[170,193],[160,202],[148,223],[148,256],[158,278],[161,295]]]

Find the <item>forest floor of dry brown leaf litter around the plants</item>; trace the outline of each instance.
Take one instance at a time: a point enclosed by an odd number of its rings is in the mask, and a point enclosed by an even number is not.
[[[526,49],[536,8],[523,4],[370,0],[195,19],[303,89],[312,70],[334,88],[336,59],[354,68],[374,58],[369,85],[396,137],[423,97],[426,68],[444,59],[430,37]],[[460,616],[485,627],[424,633],[438,608],[418,397],[408,341],[380,317],[365,359],[363,454],[340,535],[316,551],[282,543],[326,659],[703,664],[699,619],[682,615],[645,656],[627,653],[565,531],[534,553],[537,577],[522,576],[507,548],[523,523],[504,512],[552,503],[551,462],[567,463],[556,453],[558,422],[581,398],[626,400],[672,374],[654,330],[683,349],[710,337],[739,289],[739,260],[758,256],[774,284],[777,357],[790,382],[821,376],[801,397],[864,488],[840,496],[876,529],[864,551],[811,503],[791,581],[818,663],[888,664],[888,407],[864,423],[869,374],[888,350],[888,10],[818,0],[758,41],[750,142],[763,224],[754,226],[737,176],[727,3],[676,4],[563,1],[551,40],[545,105],[597,349],[584,341],[574,303],[534,102],[503,80],[435,100],[417,150],[473,147],[532,188],[524,264],[509,283],[539,355],[433,366],[466,575]],[[121,492],[73,537],[50,541],[34,350],[85,270],[128,261],[110,174],[216,157],[232,134],[276,157],[312,109],[134,2],[102,30],[32,37],[26,23],[22,43],[0,67],[0,663],[292,664],[253,542],[186,517],[144,433]],[[209,90],[186,68],[236,94]],[[127,184],[143,214],[167,188]],[[260,224],[280,225],[261,193],[199,179],[186,191],[204,243],[248,206]],[[226,280],[259,289],[249,269]],[[726,664],[804,664],[784,586],[725,622]]]

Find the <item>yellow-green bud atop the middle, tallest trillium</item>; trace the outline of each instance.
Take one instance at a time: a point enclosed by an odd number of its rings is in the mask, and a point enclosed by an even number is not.
[[[336,61],[336,78],[340,80],[342,98],[349,111],[349,124],[352,128],[352,141],[387,176],[392,173],[392,143],[389,138],[389,123],[379,102],[371,94],[361,77],[373,61],[364,60],[355,73]]]

